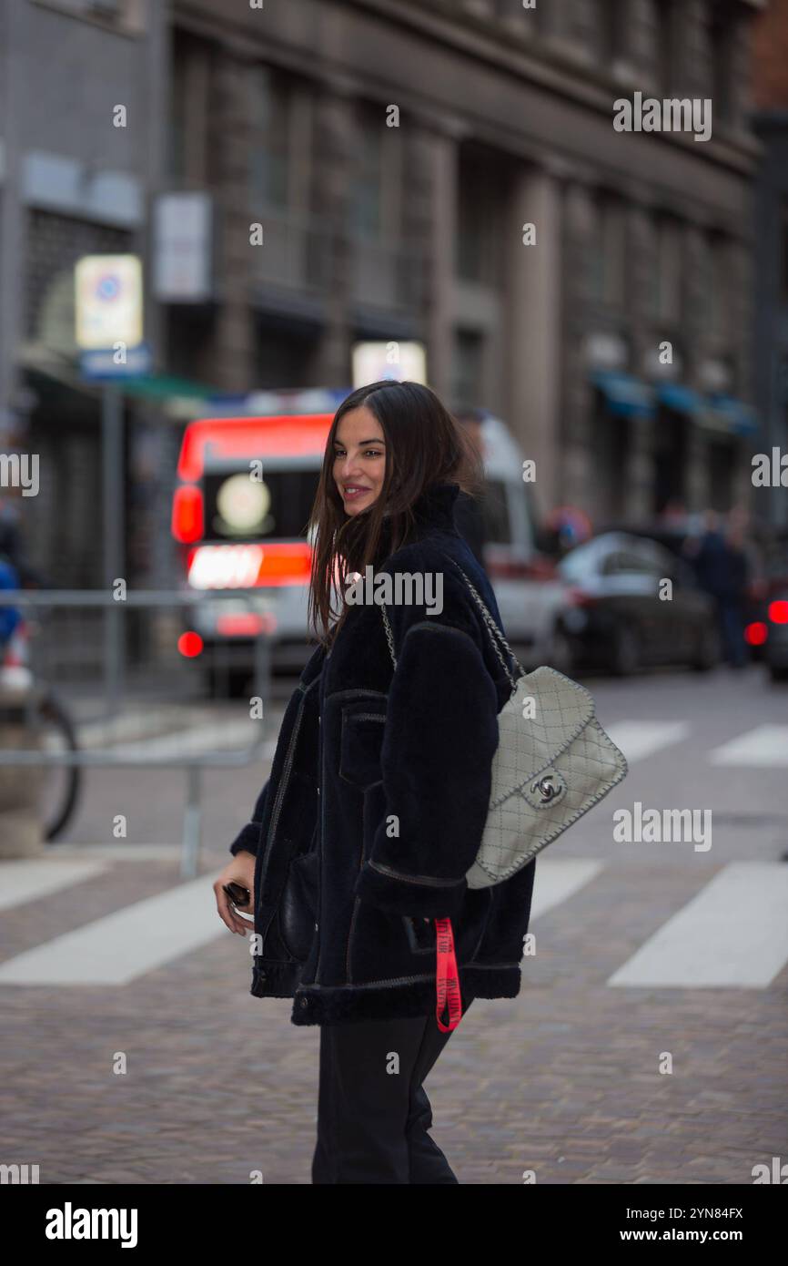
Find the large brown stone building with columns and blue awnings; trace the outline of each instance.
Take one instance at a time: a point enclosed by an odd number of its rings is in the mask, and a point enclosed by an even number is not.
[[[200,338],[169,311],[178,371],[340,386],[354,342],[416,338],[543,510],[746,498],[756,8],[176,4],[172,175],[216,200],[221,290]],[[711,138],[615,130],[635,92],[711,99]]]

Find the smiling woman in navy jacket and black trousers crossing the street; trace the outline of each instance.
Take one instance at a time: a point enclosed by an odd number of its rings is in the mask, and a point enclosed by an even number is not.
[[[218,881],[244,934],[221,885],[254,887],[252,994],[321,1025],[314,1182],[457,1182],[421,1082],[458,1013],[520,989],[534,862],[467,881],[511,685],[454,566],[500,625],[454,524],[460,486],[479,490],[478,452],[428,387],[377,382],[340,405],[310,518],[320,644]],[[348,600],[367,568],[388,582],[388,625],[376,601]],[[397,575],[439,581],[440,610],[435,585]]]

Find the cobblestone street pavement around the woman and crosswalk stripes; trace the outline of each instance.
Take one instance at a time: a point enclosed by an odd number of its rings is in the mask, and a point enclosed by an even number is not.
[[[536,909],[520,996],[478,999],[453,1034],[426,1082],[433,1133],[465,1184],[522,1182],[529,1170],[538,1182],[749,1184],[754,1165],[788,1157],[785,962],[778,955],[773,979],[749,987],[608,981],[734,863],[772,865],[782,881],[785,765],[759,756],[758,739],[740,763],[718,753],[784,724],[785,694],[755,672],[722,671],[592,689],[606,727],[637,722],[653,727],[651,747],[660,733],[673,741],[634,760],[621,787],[538,860],[536,901],[558,863],[584,860],[588,879]],[[644,736],[632,751],[648,748]],[[153,842],[143,825],[156,827],[158,809],[159,839],[172,843],[171,777],[104,775],[76,841],[109,844],[110,810],[130,806],[130,842]],[[259,782],[252,770],[209,777],[202,874],[224,863]],[[713,847],[613,843],[611,815],[634,800],[711,808]],[[181,885],[177,853],[126,853],[39,900],[9,903],[0,970],[51,942],[54,968],[66,952],[56,938]],[[47,860],[90,856],[56,847]],[[734,979],[748,955],[768,956],[779,939],[769,928],[754,951],[746,910],[742,920],[734,910]],[[699,924],[701,941],[707,934],[718,929]],[[249,974],[248,947],[219,925],[215,939],[125,985],[48,984],[46,971],[35,985],[0,980],[0,1162],[38,1163],[40,1181],[56,1184],[244,1184],[258,1170],[268,1184],[309,1182],[319,1031],[292,1025],[285,1000],[252,998]]]

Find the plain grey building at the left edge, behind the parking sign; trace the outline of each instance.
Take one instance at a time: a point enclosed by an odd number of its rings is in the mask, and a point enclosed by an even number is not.
[[[29,558],[53,587],[104,579],[101,394],[78,368],[73,267],[145,252],[161,11],[147,0],[0,0],[0,448],[39,457],[38,495],[18,506]],[[144,405],[126,400],[125,418],[142,430]],[[137,432],[125,430],[133,514]]]

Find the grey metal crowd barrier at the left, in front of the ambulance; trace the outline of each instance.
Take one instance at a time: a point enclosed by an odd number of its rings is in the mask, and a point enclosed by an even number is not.
[[[62,701],[81,708],[80,724],[96,725],[97,722],[116,724],[123,717],[123,699],[130,684],[134,694],[130,701],[145,704],[145,719],[156,722],[151,709],[162,704],[168,693],[168,705],[219,703],[215,687],[247,674],[250,696],[259,699],[262,718],[255,741],[239,749],[211,748],[171,755],[145,755],[144,752],[101,749],[43,751],[3,749],[0,770],[13,767],[44,768],[183,768],[186,796],[181,849],[181,876],[192,879],[197,874],[201,842],[201,775],[205,768],[238,768],[262,760],[268,738],[267,704],[271,699],[271,638],[266,619],[261,614],[261,600],[244,590],[196,591],[128,591],[119,601],[113,594],[94,590],[22,590],[0,592],[0,606],[33,610],[35,619],[23,614],[29,636],[28,667],[33,687],[19,696],[0,687],[0,727],[3,709],[16,703],[24,713],[25,727],[35,733],[39,710],[37,698],[43,689],[57,687]],[[206,613],[238,613],[243,608],[250,620],[248,636],[242,639],[218,639],[206,646],[199,658],[188,658],[177,648],[178,629],[190,633],[195,624],[205,623]],[[176,613],[190,613],[191,619],[177,618]],[[140,619],[137,613],[149,613]],[[47,615],[52,619],[47,619]],[[78,615],[78,618],[77,618]],[[153,617],[153,618],[152,618]],[[257,632],[255,632],[257,629]],[[96,651],[100,662],[96,663]],[[1,661],[1,648],[0,648]],[[96,714],[87,706],[94,701],[91,690],[96,682],[104,685],[104,709]],[[151,699],[151,704],[147,700]],[[133,719],[133,718],[132,718]],[[156,728],[156,725],[153,727]],[[166,722],[164,729],[166,732]],[[111,736],[110,736],[111,737]],[[116,736],[115,736],[116,737]]]

